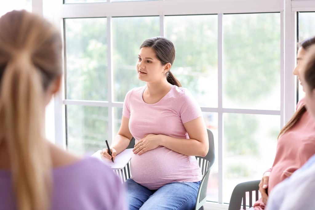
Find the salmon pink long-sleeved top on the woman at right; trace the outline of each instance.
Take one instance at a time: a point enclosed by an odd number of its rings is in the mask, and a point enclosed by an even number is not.
[[[297,104],[297,109],[304,104],[301,99]],[[268,195],[278,183],[287,178],[284,171],[295,172],[315,154],[315,121],[307,111],[295,126],[285,132],[279,139],[276,157],[268,182]],[[256,201],[254,209],[265,209],[265,204],[261,199]]]

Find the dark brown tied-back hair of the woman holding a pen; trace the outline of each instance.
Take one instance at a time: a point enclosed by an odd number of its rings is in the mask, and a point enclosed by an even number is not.
[[[151,47],[161,64],[164,66],[167,63],[173,65],[175,60],[175,47],[174,44],[164,37],[152,37],[146,39],[140,46],[140,49],[143,47]],[[170,70],[165,74],[167,81],[178,87],[181,87],[180,82],[176,77],[170,72]]]

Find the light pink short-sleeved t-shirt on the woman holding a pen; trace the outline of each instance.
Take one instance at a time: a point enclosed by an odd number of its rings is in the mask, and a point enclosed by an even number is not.
[[[189,139],[184,123],[202,116],[201,109],[186,88],[173,85],[157,103],[147,104],[142,94],[146,86],[130,90],[123,103],[123,116],[129,118],[129,130],[135,143],[147,134],[162,134]],[[177,153],[159,146],[133,154],[131,178],[151,190],[170,182],[198,182],[201,169],[195,156]]]

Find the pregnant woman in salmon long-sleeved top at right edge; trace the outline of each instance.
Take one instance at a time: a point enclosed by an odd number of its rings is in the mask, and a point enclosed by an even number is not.
[[[296,56],[297,66],[293,71],[300,81],[300,69],[303,66],[306,50],[313,44],[315,44],[315,37],[300,43]],[[304,165],[313,154],[315,154],[315,120],[306,110],[303,98],[298,102],[291,120],[280,131],[272,168],[264,173],[259,184],[262,198],[256,201],[253,208],[265,209],[268,194],[273,187]]]

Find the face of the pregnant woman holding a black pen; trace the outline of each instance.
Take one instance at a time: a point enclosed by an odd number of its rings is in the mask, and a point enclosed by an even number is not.
[[[162,66],[151,47],[140,49],[136,69],[138,78],[144,82],[157,82],[165,78],[165,66]]]

